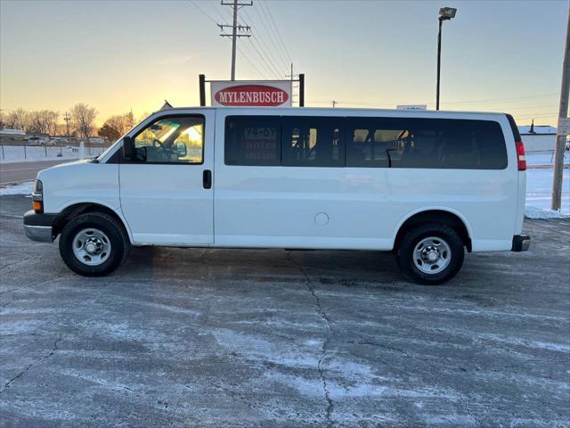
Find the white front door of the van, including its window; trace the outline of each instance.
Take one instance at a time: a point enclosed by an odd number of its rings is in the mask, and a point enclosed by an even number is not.
[[[121,160],[121,210],[135,244],[214,243],[215,111],[167,113],[135,128]]]

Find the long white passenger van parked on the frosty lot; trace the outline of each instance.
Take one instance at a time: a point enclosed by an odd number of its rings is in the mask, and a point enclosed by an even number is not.
[[[394,251],[420,284],[465,251],[525,251],[525,149],[507,114],[156,112],[101,156],[41,171],[26,235],[84,276],[131,245]]]

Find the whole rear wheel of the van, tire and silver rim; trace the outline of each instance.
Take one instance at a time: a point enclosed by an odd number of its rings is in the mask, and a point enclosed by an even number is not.
[[[443,284],[460,271],[465,249],[450,226],[427,223],[409,230],[398,245],[396,260],[403,273],[419,284]]]

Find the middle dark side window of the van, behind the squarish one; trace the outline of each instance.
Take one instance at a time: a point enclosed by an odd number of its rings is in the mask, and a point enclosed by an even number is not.
[[[281,165],[344,167],[343,118],[284,117]]]

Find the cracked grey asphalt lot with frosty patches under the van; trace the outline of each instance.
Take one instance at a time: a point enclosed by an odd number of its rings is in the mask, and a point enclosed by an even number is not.
[[[83,278],[0,197],[0,425],[569,426],[570,220],[410,284],[391,254],[138,248]]]

